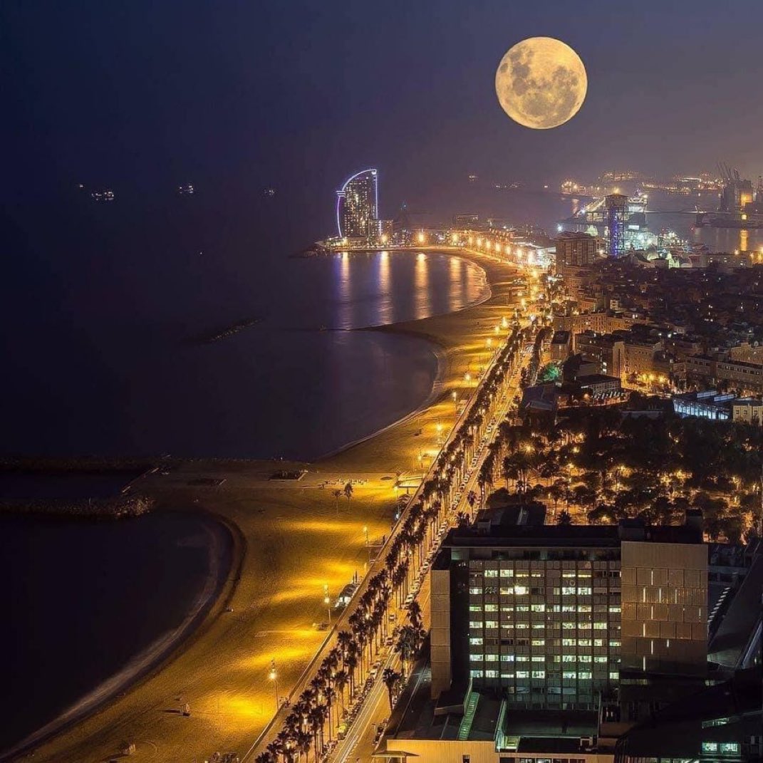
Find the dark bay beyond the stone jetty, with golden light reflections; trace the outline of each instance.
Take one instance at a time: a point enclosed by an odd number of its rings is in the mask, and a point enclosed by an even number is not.
[[[433,345],[352,329],[459,310],[485,273],[433,253],[291,258],[319,233],[259,203],[255,222],[197,198],[24,211],[0,286],[2,450],[314,459],[426,401]]]

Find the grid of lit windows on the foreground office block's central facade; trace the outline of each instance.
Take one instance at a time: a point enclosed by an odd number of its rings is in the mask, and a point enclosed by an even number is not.
[[[469,675],[510,707],[593,710],[620,666],[620,562],[471,559]]]

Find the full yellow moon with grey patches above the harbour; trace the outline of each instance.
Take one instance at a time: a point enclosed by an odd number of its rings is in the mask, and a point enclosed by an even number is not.
[[[528,37],[514,45],[495,72],[501,108],[533,130],[559,127],[578,113],[588,76],[578,53],[553,37]]]

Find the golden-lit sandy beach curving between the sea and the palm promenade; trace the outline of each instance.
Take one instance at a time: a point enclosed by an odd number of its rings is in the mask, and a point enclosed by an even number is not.
[[[233,572],[179,648],[168,644],[160,665],[130,676],[129,691],[40,745],[36,761],[104,761],[126,741],[136,745],[136,761],[204,760],[217,750],[249,749],[272,718],[276,697],[288,696],[326,635],[315,627],[329,617],[324,585],[336,597],[353,575],[364,574],[366,537],[374,546],[389,533],[395,481],[413,484],[430,465],[458,401],[473,391],[487,362],[486,340],[513,310],[507,282],[516,271],[476,253],[458,255],[485,269],[491,289],[485,301],[373,329],[409,333],[437,348],[436,386],[412,414],[312,464],[192,461],[141,480],[140,489],[160,507],[207,511],[235,528]],[[271,479],[285,468],[307,474]],[[189,484],[201,476],[224,482]],[[353,497],[337,500],[333,491],[350,479]],[[277,687],[268,678],[274,658]],[[190,717],[167,712],[180,701],[190,704]]]

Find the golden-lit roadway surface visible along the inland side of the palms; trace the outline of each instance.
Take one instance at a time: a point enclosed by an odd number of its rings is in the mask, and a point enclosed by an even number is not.
[[[512,406],[513,393],[518,388],[520,371],[529,362],[530,356],[533,352],[533,345],[526,345],[523,349],[523,356],[520,364],[517,365],[517,369],[512,373],[507,381],[507,387],[504,394],[500,398],[500,406],[494,415],[494,421],[496,426],[491,430],[491,436],[482,443],[477,452],[477,463],[471,468],[466,480],[465,489],[459,497],[459,503],[452,507],[450,514],[450,523],[453,524],[456,521],[456,514],[459,511],[468,513],[470,507],[467,502],[467,495],[469,491],[474,490],[478,493],[477,478],[480,468],[485,461],[485,456],[488,455],[488,445],[491,440],[494,439],[497,433],[497,424],[504,420],[504,417],[509,412]],[[435,550],[436,553],[436,550]],[[424,629],[429,630],[430,626],[430,576],[424,574],[421,578],[421,588],[417,594],[416,600],[421,605],[422,620]],[[401,618],[406,617],[406,610],[398,610],[397,617],[398,622]],[[394,670],[400,669],[400,658],[394,652],[389,653],[383,660],[381,668],[379,668],[378,675],[374,682],[372,691],[366,697],[363,703],[363,708],[359,715],[356,717],[352,728],[349,730],[345,739],[336,745],[336,749],[332,752],[328,758],[329,763],[355,763],[355,761],[372,761],[372,754],[375,752],[376,729],[379,723],[388,719],[390,714],[389,700],[387,687],[385,687],[384,681],[381,680],[381,674],[384,668],[393,668]],[[423,679],[425,671],[420,671],[417,674],[415,680],[420,682]],[[415,691],[411,696],[414,696]]]

